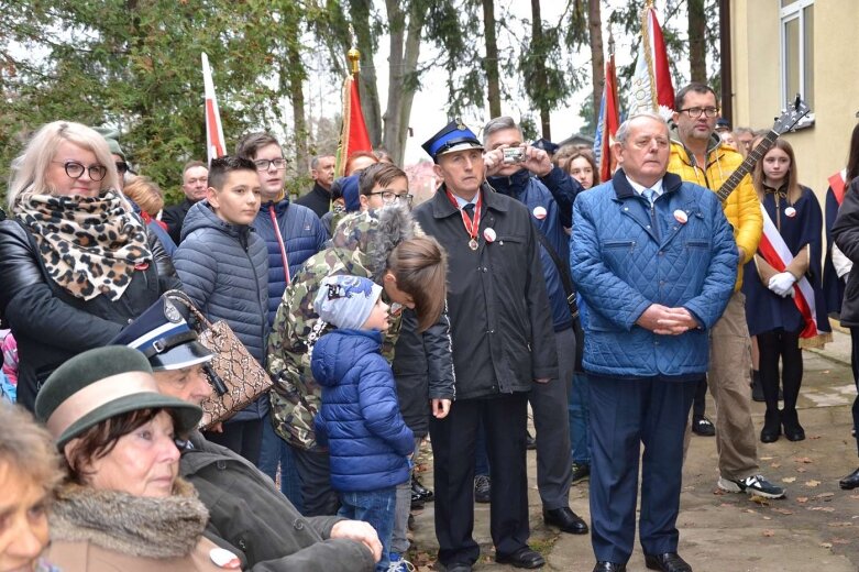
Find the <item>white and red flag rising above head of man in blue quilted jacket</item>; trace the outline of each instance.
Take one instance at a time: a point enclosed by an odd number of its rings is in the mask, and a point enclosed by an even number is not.
[[[674,108],[674,86],[665,52],[665,40],[659,26],[657,9],[648,1],[641,15],[641,42],[632,76],[629,114],[656,111],[665,119]]]

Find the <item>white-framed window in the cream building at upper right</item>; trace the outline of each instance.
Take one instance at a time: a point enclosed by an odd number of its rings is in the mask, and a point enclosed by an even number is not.
[[[813,110],[814,0],[780,2],[782,103],[792,102],[796,94],[800,94]]]

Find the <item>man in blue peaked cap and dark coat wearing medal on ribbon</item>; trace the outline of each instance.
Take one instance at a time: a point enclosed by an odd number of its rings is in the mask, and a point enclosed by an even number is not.
[[[540,568],[542,557],[528,547],[525,429],[528,393],[558,378],[558,355],[537,230],[525,206],[484,184],[483,144],[466,127],[449,123],[423,150],[443,183],[415,219],[448,251],[456,378],[450,415],[430,419],[439,561],[465,572],[480,557],[472,483],[482,420],[495,560]]]

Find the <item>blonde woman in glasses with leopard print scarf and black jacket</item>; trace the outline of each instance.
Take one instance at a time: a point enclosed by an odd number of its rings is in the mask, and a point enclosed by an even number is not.
[[[13,166],[0,222],[0,315],[18,340],[18,399],[32,410],[51,372],[108,343],[180,283],[118,190],[99,133],[48,123]]]

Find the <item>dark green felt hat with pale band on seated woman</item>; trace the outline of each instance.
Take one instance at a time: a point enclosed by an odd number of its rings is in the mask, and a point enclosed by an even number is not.
[[[108,345],[89,350],[57,367],[36,397],[36,419],[63,451],[74,438],[118,415],[141,409],[170,409],[176,435],[187,435],[202,410],[162,395],[148,360],[137,350]]]

